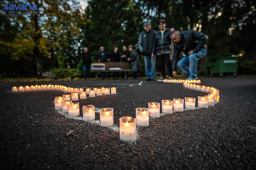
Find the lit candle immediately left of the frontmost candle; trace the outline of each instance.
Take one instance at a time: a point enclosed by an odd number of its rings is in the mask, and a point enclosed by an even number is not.
[[[108,127],[114,124],[113,108],[100,109],[100,126]]]

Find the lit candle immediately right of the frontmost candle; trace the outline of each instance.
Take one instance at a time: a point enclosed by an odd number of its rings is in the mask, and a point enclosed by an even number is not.
[[[136,125],[148,126],[149,123],[149,110],[145,107],[136,108]]]

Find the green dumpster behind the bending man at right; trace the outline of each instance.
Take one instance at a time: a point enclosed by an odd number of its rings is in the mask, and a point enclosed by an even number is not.
[[[232,73],[236,76],[238,62],[238,55],[215,54],[208,57],[205,66],[210,70],[211,76],[213,74],[220,74],[220,76],[224,76],[225,73]]]

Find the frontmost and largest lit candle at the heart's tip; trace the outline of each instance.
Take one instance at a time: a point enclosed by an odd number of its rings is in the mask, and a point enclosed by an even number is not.
[[[120,121],[120,140],[124,142],[131,142],[136,139],[136,118],[131,116],[124,116]]]

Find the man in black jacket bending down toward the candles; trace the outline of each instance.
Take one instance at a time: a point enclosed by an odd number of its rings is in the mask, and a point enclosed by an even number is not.
[[[171,37],[174,42],[173,74],[177,74],[175,71],[177,63],[177,66],[188,76],[188,79],[198,79],[197,65],[198,61],[207,54],[205,49],[207,36],[201,32],[187,30],[174,31]],[[177,62],[181,52],[184,52],[185,56]]]

